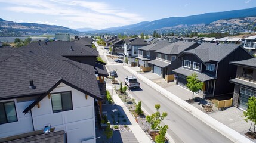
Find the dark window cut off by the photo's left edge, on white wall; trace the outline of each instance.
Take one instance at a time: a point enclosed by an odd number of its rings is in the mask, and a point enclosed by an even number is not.
[[[14,101],[0,102],[0,124],[18,121]]]

